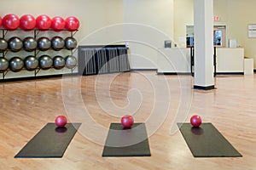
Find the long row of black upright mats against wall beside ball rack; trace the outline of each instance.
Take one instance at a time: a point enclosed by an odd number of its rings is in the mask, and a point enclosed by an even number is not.
[[[79,74],[96,75],[130,71],[125,45],[79,46]]]

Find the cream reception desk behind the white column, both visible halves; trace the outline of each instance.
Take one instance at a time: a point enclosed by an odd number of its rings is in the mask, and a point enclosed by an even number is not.
[[[217,73],[243,73],[243,48],[216,48]],[[212,56],[213,59],[213,56]],[[189,73],[190,48],[160,48],[157,58],[158,73]]]

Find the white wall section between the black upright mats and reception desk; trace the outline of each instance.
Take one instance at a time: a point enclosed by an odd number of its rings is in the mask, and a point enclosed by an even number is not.
[[[173,37],[173,0],[124,0],[123,8],[131,68],[156,69],[157,49]]]

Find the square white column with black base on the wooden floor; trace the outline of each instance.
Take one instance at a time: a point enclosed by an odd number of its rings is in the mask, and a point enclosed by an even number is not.
[[[194,25],[194,88],[213,89],[213,0],[194,0]]]

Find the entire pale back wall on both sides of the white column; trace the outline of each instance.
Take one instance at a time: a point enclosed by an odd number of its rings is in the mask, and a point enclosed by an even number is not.
[[[0,15],[14,13],[74,15],[81,26],[76,38],[80,44],[106,44],[122,40],[131,42],[131,68],[156,68],[154,48],[163,48],[166,38],[174,37],[178,47],[185,47],[185,26],[193,25],[193,0],[1,0]],[[254,59],[256,68],[256,38],[247,37],[247,24],[256,23],[255,0],[214,0],[216,25],[227,26],[227,37],[236,38],[245,48],[245,55]],[[122,25],[122,23],[135,23]],[[118,25],[117,25],[118,24]],[[124,34],[125,32],[125,34]],[[162,33],[163,32],[163,33]],[[160,36],[161,35],[161,36]],[[139,42],[137,41],[137,42]],[[145,44],[151,44],[149,48]],[[143,56],[143,57],[137,57]]]

